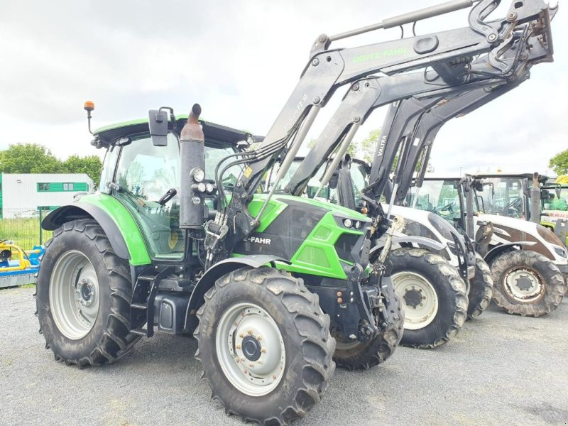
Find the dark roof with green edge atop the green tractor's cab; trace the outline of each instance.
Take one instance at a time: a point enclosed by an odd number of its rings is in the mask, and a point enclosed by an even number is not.
[[[175,128],[178,134],[185,126],[187,122],[187,114],[178,115],[175,120]],[[241,141],[249,141],[249,138],[253,138],[253,134],[231,129],[230,127],[221,126],[220,124],[214,124],[209,121],[200,120],[202,125],[203,133],[207,140],[222,141],[225,143],[231,143],[231,145],[236,145]],[[101,143],[102,146],[109,146],[110,143],[116,141],[124,136],[131,135],[133,133],[142,133],[148,131],[148,119],[138,119],[131,121],[124,121],[118,124],[111,124],[110,126],[104,126],[100,129],[94,131],[94,137],[97,141]]]

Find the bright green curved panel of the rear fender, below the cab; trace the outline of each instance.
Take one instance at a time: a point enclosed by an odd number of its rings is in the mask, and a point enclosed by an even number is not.
[[[97,193],[84,195],[80,198],[80,201],[94,204],[104,210],[116,226],[119,227],[126,242],[126,247],[129,249],[131,265],[138,266],[152,263],[138,224],[136,224],[130,212],[119,200],[110,195]]]

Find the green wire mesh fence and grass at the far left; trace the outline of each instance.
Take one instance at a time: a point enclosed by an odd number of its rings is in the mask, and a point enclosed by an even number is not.
[[[21,249],[31,250],[51,238],[52,231],[41,229],[48,212],[43,210],[3,209],[0,219],[0,240],[11,240]]]

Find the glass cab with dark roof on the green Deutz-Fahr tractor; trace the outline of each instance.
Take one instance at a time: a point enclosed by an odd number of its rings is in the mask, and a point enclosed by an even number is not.
[[[180,131],[187,116],[170,123],[165,146],[156,146],[148,120],[136,120],[94,131],[92,145],[107,149],[99,192],[114,193],[136,220],[154,260],[181,261],[185,256],[185,230],[180,229]],[[200,121],[204,142],[204,204],[207,217],[217,211],[214,170],[227,155],[252,140],[244,131]],[[225,174],[231,190],[241,169]]]

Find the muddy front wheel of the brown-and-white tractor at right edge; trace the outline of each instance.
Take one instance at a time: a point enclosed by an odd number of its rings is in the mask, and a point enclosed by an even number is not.
[[[540,317],[555,310],[566,292],[552,261],[530,250],[503,253],[491,262],[493,300],[509,314]]]

